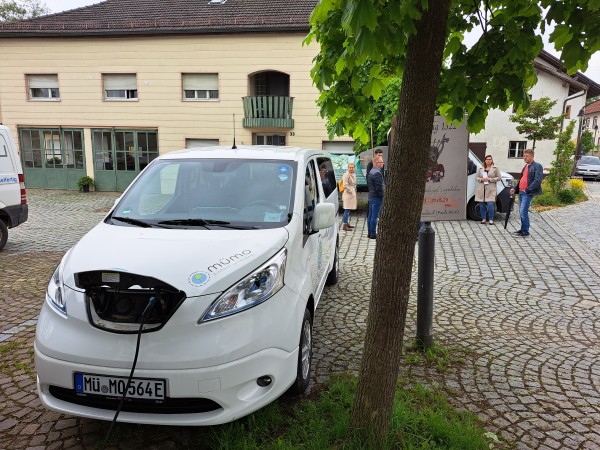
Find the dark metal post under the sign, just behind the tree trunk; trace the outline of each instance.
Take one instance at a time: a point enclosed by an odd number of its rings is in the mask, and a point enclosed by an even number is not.
[[[417,345],[421,349],[433,345],[433,263],[435,231],[431,222],[419,230],[419,274],[417,286]]]

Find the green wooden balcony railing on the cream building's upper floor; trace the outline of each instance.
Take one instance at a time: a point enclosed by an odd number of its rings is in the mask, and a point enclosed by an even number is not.
[[[257,95],[243,97],[244,128],[294,128],[294,97]]]

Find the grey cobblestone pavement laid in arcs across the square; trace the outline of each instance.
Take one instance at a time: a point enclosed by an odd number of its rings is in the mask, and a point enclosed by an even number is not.
[[[500,220],[434,224],[434,339],[459,362],[442,372],[406,365],[401,375],[441,387],[518,449],[600,449],[600,183],[588,189],[588,202],[533,213],[529,239],[510,235],[516,215],[506,231]],[[10,230],[0,253],[0,449],[94,448],[107,422],[40,406],[32,342],[56,264],[117,194],[28,194],[30,219]],[[351,220],[340,282],[326,289],[315,320],[313,385],[358,370],[375,241],[366,239],[364,217]],[[412,292],[407,343],[414,283]],[[148,427],[119,427],[118,448],[201,448],[189,428],[152,427],[145,441]]]

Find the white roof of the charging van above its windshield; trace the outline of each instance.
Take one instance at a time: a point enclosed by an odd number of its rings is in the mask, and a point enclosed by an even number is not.
[[[159,159],[286,159],[298,161],[313,155],[329,156],[323,150],[307,149],[301,147],[285,147],[276,145],[239,145],[233,149],[230,146],[188,148],[165,153]]]

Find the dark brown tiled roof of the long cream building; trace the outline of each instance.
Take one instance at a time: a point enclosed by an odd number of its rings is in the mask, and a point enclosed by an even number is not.
[[[106,0],[12,23],[0,37],[308,31],[317,0]]]

